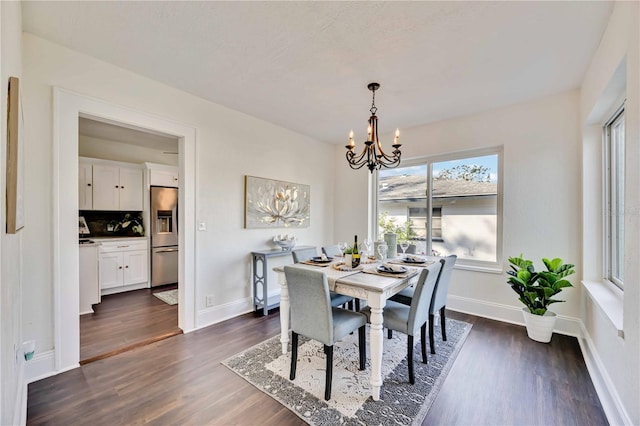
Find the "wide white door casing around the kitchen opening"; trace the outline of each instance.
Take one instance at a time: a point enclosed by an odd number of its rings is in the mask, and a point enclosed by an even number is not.
[[[79,249],[78,229],[78,123],[87,117],[147,132],[171,135],[179,140],[179,237],[178,327],[195,329],[195,140],[196,129],[127,107],[54,88],[54,370],[78,366]]]

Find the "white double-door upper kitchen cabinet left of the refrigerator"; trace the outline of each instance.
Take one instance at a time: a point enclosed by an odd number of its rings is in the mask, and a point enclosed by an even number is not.
[[[141,211],[142,169],[93,164],[93,210]]]

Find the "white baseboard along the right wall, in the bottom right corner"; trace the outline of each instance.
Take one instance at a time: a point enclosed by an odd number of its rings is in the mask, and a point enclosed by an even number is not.
[[[587,365],[587,371],[593,382],[593,387],[596,389],[598,398],[600,398],[600,404],[604,410],[604,414],[607,416],[607,420],[610,425],[632,425],[633,422],[629,417],[629,414],[624,409],[622,401],[618,396],[615,386],[607,373],[607,370],[602,364],[602,360],[595,350],[595,345],[589,333],[587,332],[584,323],[580,323],[582,327],[582,336],[578,339],[580,343],[580,349],[582,350],[582,356],[584,362]]]

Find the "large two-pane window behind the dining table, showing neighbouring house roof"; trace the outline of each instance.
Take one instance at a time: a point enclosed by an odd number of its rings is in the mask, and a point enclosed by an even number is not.
[[[500,148],[403,162],[377,174],[378,235],[393,232],[416,253],[456,254],[497,266],[501,256]]]

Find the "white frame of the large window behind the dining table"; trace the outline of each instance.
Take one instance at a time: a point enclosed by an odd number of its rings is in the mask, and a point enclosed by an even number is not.
[[[412,166],[427,166],[427,250],[431,249],[431,244],[433,243],[432,239],[432,231],[431,231],[431,221],[432,221],[432,212],[433,212],[433,200],[430,194],[433,192],[432,183],[433,183],[433,164],[439,163],[443,161],[451,161],[451,160],[460,160],[465,158],[474,158],[474,157],[482,157],[487,155],[497,155],[498,156],[498,182],[497,182],[497,199],[496,199],[496,260],[495,262],[486,261],[486,260],[471,260],[471,259],[458,259],[456,261],[456,268],[458,269],[468,269],[479,272],[490,272],[490,273],[502,273],[502,256],[503,256],[503,197],[504,197],[504,189],[503,189],[503,181],[504,181],[504,167],[503,167],[503,158],[504,158],[504,147],[502,145],[487,147],[487,148],[479,148],[473,150],[465,150],[465,151],[456,151],[445,154],[438,155],[428,155],[422,157],[415,157],[403,160],[402,163],[398,167],[412,167]],[[375,176],[371,179],[371,192],[373,195],[373,205],[371,209],[371,217],[370,220],[373,224],[375,224],[373,229],[374,238],[379,239],[378,235],[378,217],[379,217],[379,200],[378,200],[378,186],[379,186],[379,172],[376,170],[374,173]],[[438,207],[438,206],[436,206]]]

